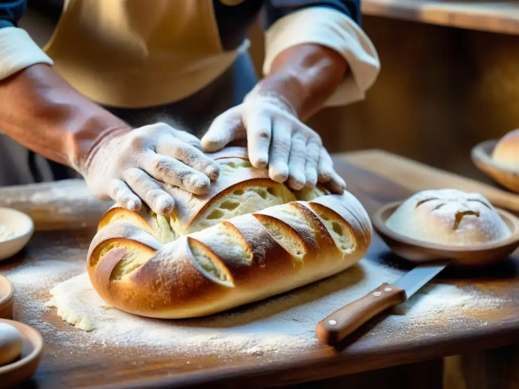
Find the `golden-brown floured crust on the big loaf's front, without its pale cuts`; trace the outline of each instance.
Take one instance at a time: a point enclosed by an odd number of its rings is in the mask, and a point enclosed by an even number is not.
[[[344,203],[347,197],[327,197],[332,199],[291,202],[261,213],[237,216],[163,244],[158,250],[149,245],[151,237],[148,234],[137,235],[125,223],[108,226],[112,228],[111,233],[105,233],[104,229],[100,231],[105,236],[94,239],[97,246],[89,252],[92,285],[103,299],[121,310],[149,317],[184,318],[221,312],[320,280],[359,261],[371,241],[370,220],[356,209],[358,205],[354,204],[350,209],[350,204]],[[342,204],[344,209],[335,212],[323,203]],[[348,231],[351,247],[347,251],[339,248],[324,225],[319,216],[323,211],[333,215],[336,223],[341,223]],[[279,236],[300,242],[304,253],[297,255],[291,253],[290,248],[284,248],[276,240],[278,235],[272,236],[266,225],[277,228]],[[223,227],[236,235],[233,239],[240,242],[237,244],[252,253],[250,260],[236,261],[225,252],[213,233]],[[310,233],[314,228],[319,232]],[[110,238],[116,232],[126,232],[126,236],[133,238]],[[139,241],[142,238],[146,238],[147,243]],[[117,246],[108,251],[104,249],[114,242]],[[194,255],[194,245],[210,259],[212,267],[224,274],[223,279],[204,270],[202,262]],[[143,264],[119,279],[113,279],[114,268],[129,252],[136,253]]]

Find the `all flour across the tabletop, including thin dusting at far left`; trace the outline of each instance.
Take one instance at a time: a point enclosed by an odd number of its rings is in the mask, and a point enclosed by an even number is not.
[[[86,247],[74,247],[72,243],[51,247],[48,253],[29,253],[27,260],[4,272],[16,288],[15,318],[37,328],[47,343],[59,345],[60,349],[124,346],[189,357],[293,354],[320,346],[315,327],[322,318],[402,274],[363,259],[329,279],[246,307],[208,317],[167,321],[108,307],[85,273]],[[74,257],[77,261],[60,260]],[[369,328],[369,333],[386,336],[388,341],[391,337],[405,337],[413,330],[433,336],[439,324],[457,328],[460,320],[472,317],[474,310],[490,311],[506,303],[475,289],[430,284]],[[471,319],[472,327],[485,325]]]

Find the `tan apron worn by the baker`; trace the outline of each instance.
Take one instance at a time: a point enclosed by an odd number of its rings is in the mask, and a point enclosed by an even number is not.
[[[45,51],[79,92],[125,108],[179,101],[238,56],[222,49],[212,0],[69,0]]]

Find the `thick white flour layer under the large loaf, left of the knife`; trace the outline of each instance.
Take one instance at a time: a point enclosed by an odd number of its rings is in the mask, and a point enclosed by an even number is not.
[[[316,324],[346,302],[361,297],[398,271],[366,260],[327,282],[210,317],[165,321],[109,307],[88,275],[79,274],[51,289],[48,306],[66,322],[101,343],[174,348],[177,352],[242,352],[263,355],[315,347]]]

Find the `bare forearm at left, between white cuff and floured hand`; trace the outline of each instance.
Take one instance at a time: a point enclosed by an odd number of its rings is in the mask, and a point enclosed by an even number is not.
[[[74,90],[47,64],[0,81],[0,129],[25,147],[79,170],[98,140],[126,123]]]

